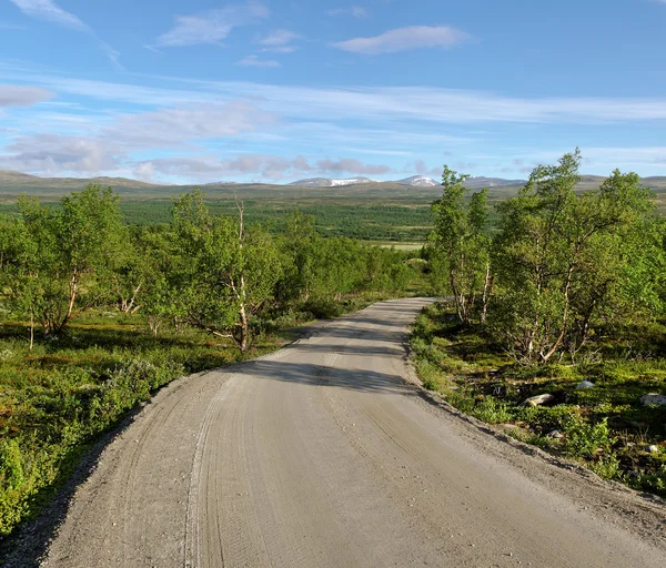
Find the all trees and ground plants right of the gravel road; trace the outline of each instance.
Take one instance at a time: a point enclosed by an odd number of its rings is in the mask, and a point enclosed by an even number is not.
[[[498,206],[445,168],[412,335],[426,388],[508,435],[666,497],[664,220],[633,173],[575,192],[581,155]]]

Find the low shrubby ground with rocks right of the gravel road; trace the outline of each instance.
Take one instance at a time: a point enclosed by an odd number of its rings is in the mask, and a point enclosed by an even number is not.
[[[602,477],[666,497],[666,406],[639,402],[666,394],[665,338],[666,326],[645,324],[606,336],[575,366],[526,367],[436,304],[418,316],[411,344],[424,386],[453,406]],[[576,388],[582,381],[595,386]],[[521,405],[545,393],[555,397],[551,405]]]

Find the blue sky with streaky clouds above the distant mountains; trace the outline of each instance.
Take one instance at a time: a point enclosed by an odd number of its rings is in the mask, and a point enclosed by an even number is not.
[[[0,0],[0,169],[666,175],[666,0]]]

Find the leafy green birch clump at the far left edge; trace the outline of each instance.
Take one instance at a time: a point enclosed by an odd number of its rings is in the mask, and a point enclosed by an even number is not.
[[[20,219],[1,220],[6,302],[19,317],[58,334],[108,293],[110,274],[127,244],[118,197],[90,185],[60,207],[21,197]]]

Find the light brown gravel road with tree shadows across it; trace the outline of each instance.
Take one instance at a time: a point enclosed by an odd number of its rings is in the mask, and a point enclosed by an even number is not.
[[[375,304],[160,392],[77,490],[44,566],[664,568],[658,501],[405,384],[426,303]]]

